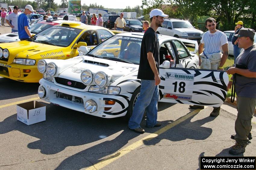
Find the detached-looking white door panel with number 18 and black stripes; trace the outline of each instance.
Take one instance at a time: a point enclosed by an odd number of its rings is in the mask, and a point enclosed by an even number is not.
[[[161,102],[219,107],[226,98],[228,75],[224,71],[160,68]]]

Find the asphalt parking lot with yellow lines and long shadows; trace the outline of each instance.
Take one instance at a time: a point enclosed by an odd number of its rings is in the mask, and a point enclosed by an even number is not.
[[[9,27],[4,27],[7,30]],[[2,27],[0,27],[0,33]],[[137,134],[121,118],[104,119],[59,107],[37,95],[38,83],[0,77],[0,169],[199,169],[200,156],[232,156],[236,108],[224,104],[220,115],[212,107],[158,103],[158,128]],[[46,121],[25,125],[16,105],[37,100],[46,105]],[[238,156],[256,156],[253,139]]]

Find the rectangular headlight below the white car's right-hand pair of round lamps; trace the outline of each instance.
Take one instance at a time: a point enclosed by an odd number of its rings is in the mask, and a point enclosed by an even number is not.
[[[113,94],[120,94],[121,88],[117,86],[104,86],[104,87],[91,86],[88,91],[94,92],[94,93],[113,95]]]

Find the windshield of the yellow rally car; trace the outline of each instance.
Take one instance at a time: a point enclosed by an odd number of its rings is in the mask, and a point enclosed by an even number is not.
[[[33,36],[30,41],[67,47],[81,31],[81,29],[67,26],[52,26]]]

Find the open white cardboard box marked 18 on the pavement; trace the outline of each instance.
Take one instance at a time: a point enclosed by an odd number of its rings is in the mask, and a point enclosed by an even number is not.
[[[38,101],[36,101],[35,107],[34,101],[17,104],[17,120],[26,125],[45,121],[45,110],[46,106]]]

